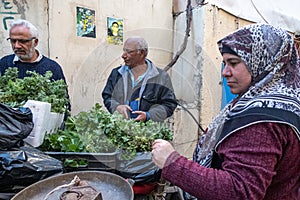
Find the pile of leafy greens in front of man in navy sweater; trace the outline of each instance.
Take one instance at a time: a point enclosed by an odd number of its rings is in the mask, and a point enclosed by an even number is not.
[[[27,100],[48,102],[51,111],[65,113],[69,99],[67,85],[63,80],[51,81],[52,72],[45,76],[27,71],[30,76],[18,78],[17,68],[8,68],[0,77],[0,102],[11,107],[21,107]]]

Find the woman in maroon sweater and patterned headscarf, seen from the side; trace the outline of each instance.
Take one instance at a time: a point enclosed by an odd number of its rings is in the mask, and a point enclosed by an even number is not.
[[[300,199],[300,60],[288,32],[252,24],[218,42],[238,96],[200,137],[193,161],[152,145],[162,177],[201,200]]]

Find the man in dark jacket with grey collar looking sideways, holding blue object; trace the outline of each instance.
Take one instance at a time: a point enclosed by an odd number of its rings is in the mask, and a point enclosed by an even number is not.
[[[164,121],[176,106],[168,73],[149,59],[148,44],[140,37],[128,38],[123,47],[124,64],[112,70],[102,92],[110,113],[118,111],[136,121]]]

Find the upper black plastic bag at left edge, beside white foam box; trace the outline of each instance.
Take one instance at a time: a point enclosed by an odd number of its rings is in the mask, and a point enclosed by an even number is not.
[[[32,112],[29,108],[13,109],[0,103],[0,150],[23,146],[23,139],[32,129]]]

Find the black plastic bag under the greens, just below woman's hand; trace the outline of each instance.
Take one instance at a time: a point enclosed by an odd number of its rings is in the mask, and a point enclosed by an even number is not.
[[[151,152],[138,152],[130,160],[119,154],[116,173],[134,180],[134,184],[156,183],[161,177],[161,170],[153,163]]]

